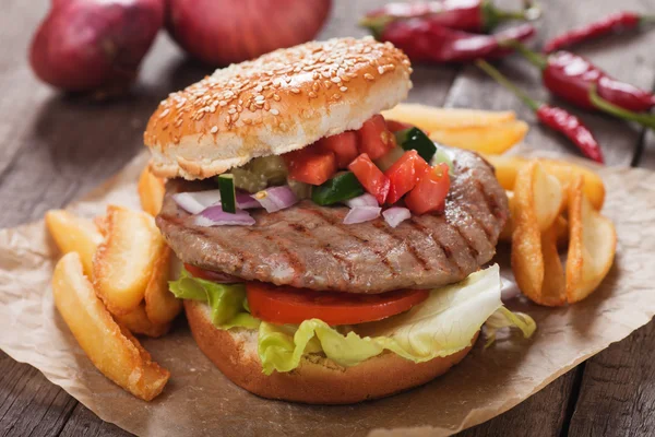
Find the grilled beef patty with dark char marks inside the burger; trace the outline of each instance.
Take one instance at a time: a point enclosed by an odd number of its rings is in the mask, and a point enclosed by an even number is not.
[[[183,262],[247,281],[348,293],[451,284],[491,260],[509,216],[491,166],[473,152],[453,154],[445,211],[396,228],[382,217],[345,225],[346,206],[308,200],[275,213],[251,210],[252,226],[200,227],[170,196],[199,182],[180,179],[168,181],[157,225]]]

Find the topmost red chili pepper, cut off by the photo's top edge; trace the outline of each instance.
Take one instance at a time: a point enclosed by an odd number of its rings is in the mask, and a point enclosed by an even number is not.
[[[539,15],[540,11],[537,8],[504,11],[496,8],[489,0],[441,0],[389,3],[367,13],[359,24],[379,34],[392,21],[425,19],[457,31],[484,33],[508,20],[532,21]]]

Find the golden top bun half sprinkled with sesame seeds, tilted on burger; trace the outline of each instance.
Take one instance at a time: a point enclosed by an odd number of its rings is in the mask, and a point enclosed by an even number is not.
[[[202,179],[358,129],[407,96],[410,72],[401,50],[372,38],[307,43],[216,70],[151,117],[151,170]]]

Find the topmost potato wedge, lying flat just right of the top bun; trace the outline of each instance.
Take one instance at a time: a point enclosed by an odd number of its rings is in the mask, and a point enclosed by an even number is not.
[[[436,108],[403,103],[382,111],[384,118],[404,121],[427,132],[440,129],[480,128],[516,119],[514,111]]]

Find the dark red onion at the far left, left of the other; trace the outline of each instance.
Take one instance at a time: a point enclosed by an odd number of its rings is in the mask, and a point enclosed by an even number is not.
[[[164,25],[164,1],[53,0],[32,40],[32,69],[63,91],[124,91]]]

